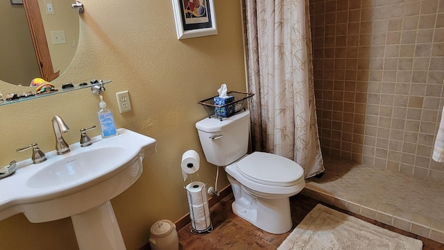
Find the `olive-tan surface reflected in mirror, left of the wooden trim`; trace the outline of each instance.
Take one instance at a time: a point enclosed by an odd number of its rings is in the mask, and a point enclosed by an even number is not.
[[[40,76],[33,40],[22,5],[0,1],[0,79],[8,83],[29,85]],[[3,92],[3,90],[0,90]]]

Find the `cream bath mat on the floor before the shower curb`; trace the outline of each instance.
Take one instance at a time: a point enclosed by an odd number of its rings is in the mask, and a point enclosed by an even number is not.
[[[419,250],[422,242],[318,204],[278,248],[290,249]]]

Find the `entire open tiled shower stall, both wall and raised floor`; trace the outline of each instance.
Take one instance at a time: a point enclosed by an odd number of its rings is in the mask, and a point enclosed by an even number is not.
[[[444,243],[444,0],[309,0],[325,175],[302,192]]]

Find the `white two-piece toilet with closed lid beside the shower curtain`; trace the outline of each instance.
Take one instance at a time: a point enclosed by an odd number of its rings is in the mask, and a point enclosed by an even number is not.
[[[272,153],[247,154],[250,111],[196,123],[208,163],[224,166],[234,193],[235,215],[268,233],[291,230],[289,197],[305,186],[304,169]]]

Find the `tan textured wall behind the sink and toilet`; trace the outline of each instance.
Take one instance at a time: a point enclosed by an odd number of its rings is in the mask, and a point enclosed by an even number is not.
[[[188,213],[182,153],[198,151],[200,180],[214,185],[216,167],[206,163],[194,127],[206,115],[197,101],[216,95],[221,83],[246,90],[241,6],[215,1],[219,35],[177,40],[171,1],[82,2],[78,53],[58,83],[111,79],[104,98],[117,125],[157,140],[157,153],[144,160],[141,178],[112,199],[126,246],[137,249],[148,242],[158,219],[176,221]],[[1,92],[11,89],[0,83]],[[122,90],[130,92],[130,113],[118,112],[115,92]],[[99,125],[98,110],[99,98],[87,89],[0,106],[0,164],[31,157],[15,149],[33,142],[52,151],[53,115],[71,127],[65,140],[77,142],[80,128]],[[90,135],[99,135],[99,129]],[[228,186],[224,174],[219,181],[218,187]],[[8,188],[13,187],[1,192]],[[0,222],[0,235],[1,249],[77,249],[69,219],[31,224],[15,215]]]

